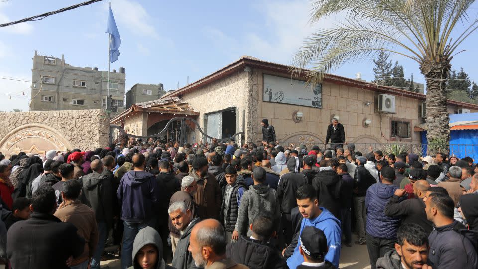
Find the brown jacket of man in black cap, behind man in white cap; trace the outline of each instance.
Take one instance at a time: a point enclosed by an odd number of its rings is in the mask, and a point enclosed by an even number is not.
[[[219,211],[223,201],[223,195],[218,181],[213,174],[208,173],[205,177],[199,178],[196,171],[191,170],[192,177],[198,184],[198,191],[193,195],[194,202],[198,206],[198,216],[201,219],[219,220]]]

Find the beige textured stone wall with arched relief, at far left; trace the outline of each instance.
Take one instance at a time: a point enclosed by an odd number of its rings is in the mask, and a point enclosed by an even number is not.
[[[0,113],[0,151],[94,150],[108,145],[109,119],[104,110],[63,110]]]

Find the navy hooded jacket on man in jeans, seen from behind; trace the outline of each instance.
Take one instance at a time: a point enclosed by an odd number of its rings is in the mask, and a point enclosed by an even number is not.
[[[123,221],[142,223],[154,217],[159,190],[156,177],[148,172],[129,171],[119,182],[116,193]]]

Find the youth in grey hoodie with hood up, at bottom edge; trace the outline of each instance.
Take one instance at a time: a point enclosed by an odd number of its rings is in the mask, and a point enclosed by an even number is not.
[[[164,262],[161,236],[149,226],[139,231],[134,238],[132,254],[133,266],[128,269],[174,269]]]

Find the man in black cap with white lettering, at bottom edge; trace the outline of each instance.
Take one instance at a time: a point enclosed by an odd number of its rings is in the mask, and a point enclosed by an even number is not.
[[[300,236],[299,247],[304,262],[297,269],[335,269],[334,265],[324,260],[328,250],[324,232],[314,226],[306,226]]]

